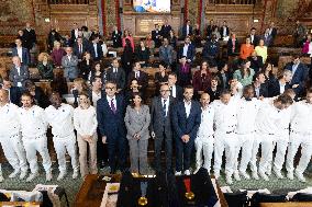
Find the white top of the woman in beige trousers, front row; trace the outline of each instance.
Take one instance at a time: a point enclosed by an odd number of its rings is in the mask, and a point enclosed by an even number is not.
[[[80,136],[92,136],[97,133],[98,120],[96,108],[90,107],[83,110],[80,106],[74,110],[74,125],[77,134]]]

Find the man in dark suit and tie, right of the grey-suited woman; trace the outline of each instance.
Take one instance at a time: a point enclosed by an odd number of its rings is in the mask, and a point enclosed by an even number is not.
[[[172,130],[171,110],[175,97],[170,96],[168,84],[160,85],[160,95],[152,101],[151,106],[151,134],[155,141],[155,170],[163,172],[160,165],[161,146],[165,143],[166,172],[172,170]]]

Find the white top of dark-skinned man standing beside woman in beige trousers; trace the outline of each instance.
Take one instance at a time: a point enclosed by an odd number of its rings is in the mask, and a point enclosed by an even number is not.
[[[45,114],[54,137],[65,138],[74,133],[74,107],[71,105],[63,103],[57,110],[51,105],[45,108]]]

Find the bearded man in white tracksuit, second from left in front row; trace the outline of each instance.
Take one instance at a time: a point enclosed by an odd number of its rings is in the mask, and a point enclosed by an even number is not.
[[[31,174],[26,182],[32,182],[38,175],[37,156],[42,157],[42,164],[46,173],[46,181],[52,180],[52,162],[47,150],[46,129],[44,110],[33,105],[33,96],[30,93],[22,94],[23,106],[19,108],[19,119],[21,124],[23,146],[26,151],[26,159],[30,163]]]

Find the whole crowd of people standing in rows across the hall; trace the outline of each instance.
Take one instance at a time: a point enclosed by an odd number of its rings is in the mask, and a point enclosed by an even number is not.
[[[260,176],[268,181],[271,172],[282,179],[281,169],[288,149],[287,177],[293,180],[294,174],[304,182],[303,172],[312,152],[312,128],[309,125],[311,70],[309,74],[300,56],[293,55],[292,61],[276,77],[267,54],[267,46],[276,35],[274,24],[263,37],[252,28],[246,44],[241,47],[232,33],[227,41],[227,56],[229,59],[239,57],[237,65],[220,59],[218,31],[222,31],[223,41],[227,39],[226,22],[220,28],[210,22],[203,60],[194,72],[198,39],[192,34],[190,21],[181,28],[185,42],[180,47],[167,21],[161,28],[155,25],[155,31],[146,41],[141,41],[137,48],[134,48],[129,31],[122,36],[114,27],[112,46],[123,47],[121,62],[118,58],[111,62],[102,61],[108,48],[100,42],[97,31],[91,33],[75,24],[71,35],[65,39],[52,31],[49,54],[42,53],[37,64],[42,79],[54,79],[51,94],[44,94],[30,81],[29,49],[23,47],[22,38],[15,39],[13,68],[9,77],[2,78],[0,90],[0,125],[3,126],[0,127],[0,142],[13,168],[9,177],[20,175],[23,180],[30,169],[26,181],[33,181],[38,175],[38,152],[46,180],[53,179],[46,136],[51,127],[58,160],[57,180],[67,174],[66,152],[71,159],[73,179],[79,176],[79,166],[82,177],[97,173],[98,164],[102,168],[105,159],[110,173],[123,172],[127,170],[129,157],[131,172],[149,174],[147,147],[152,138],[156,172],[164,171],[164,146],[165,171],[176,175],[189,175],[200,168],[211,172],[214,154],[213,172],[219,177],[225,151],[229,184],[233,183],[233,176],[236,181],[241,176],[250,179],[248,164],[253,179]],[[311,42],[308,35],[307,42],[309,39]],[[151,96],[147,95],[148,74],[144,67],[149,64],[152,46],[159,47],[159,64],[155,74],[155,96],[147,105],[145,102]],[[109,67],[103,69],[103,65]],[[54,68],[63,70],[64,79],[55,79]],[[63,94],[67,93],[66,81],[74,81],[70,92],[75,96],[75,107],[63,103]],[[301,97],[305,99],[297,102]],[[259,146],[261,158],[257,164]],[[294,170],[293,160],[299,146],[302,148],[301,158]],[[194,153],[196,169],[192,171]],[[3,181],[2,173],[0,181]]]

